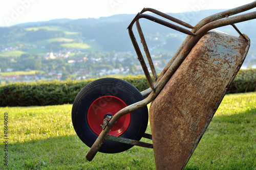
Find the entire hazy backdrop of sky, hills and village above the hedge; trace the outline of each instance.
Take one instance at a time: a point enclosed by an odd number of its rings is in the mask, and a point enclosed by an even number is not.
[[[1,2],[0,83],[141,75],[143,71],[126,28],[144,7],[157,9],[195,26],[209,15],[250,2]],[[145,19],[140,23],[160,73],[186,35]],[[243,69],[256,67],[255,23],[256,20],[250,20],[236,24],[251,39]],[[231,26],[218,30],[239,36]]]

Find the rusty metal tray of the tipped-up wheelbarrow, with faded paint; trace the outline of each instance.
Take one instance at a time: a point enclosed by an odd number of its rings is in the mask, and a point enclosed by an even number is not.
[[[207,33],[152,102],[150,123],[157,169],[185,167],[248,46],[242,38]]]

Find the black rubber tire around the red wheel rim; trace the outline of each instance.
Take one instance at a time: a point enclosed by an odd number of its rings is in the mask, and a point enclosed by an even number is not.
[[[78,137],[90,148],[98,135],[92,131],[88,124],[87,112],[93,101],[105,95],[116,96],[127,106],[144,99],[136,87],[120,79],[103,78],[84,86],[77,94],[74,101],[72,107],[72,122]],[[147,106],[145,106],[131,113],[129,128],[120,136],[140,140],[146,131],[147,123],[148,110]],[[133,145],[130,144],[105,140],[99,152],[119,153],[132,147]]]

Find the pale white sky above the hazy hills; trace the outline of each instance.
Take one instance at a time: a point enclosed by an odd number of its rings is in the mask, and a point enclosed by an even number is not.
[[[137,14],[144,7],[161,12],[230,9],[253,1],[243,0],[10,0],[0,2],[0,27],[57,18],[99,18]]]

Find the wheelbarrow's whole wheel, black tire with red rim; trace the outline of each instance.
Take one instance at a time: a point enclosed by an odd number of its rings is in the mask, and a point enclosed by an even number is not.
[[[122,108],[143,100],[132,84],[120,79],[103,78],[84,86],[77,94],[72,108],[72,122],[78,137],[88,147],[102,131],[103,119]],[[113,126],[110,135],[140,140],[148,124],[147,107],[123,115]],[[133,145],[105,140],[99,150],[103,153],[119,153]]]

